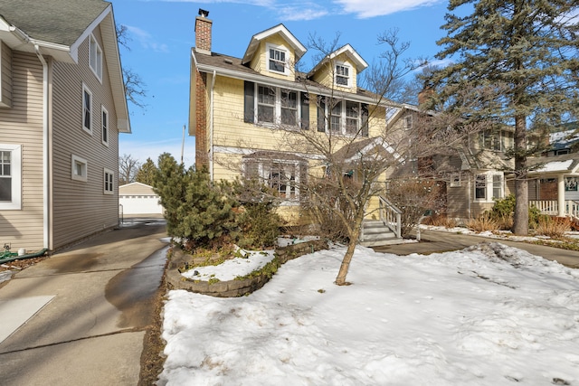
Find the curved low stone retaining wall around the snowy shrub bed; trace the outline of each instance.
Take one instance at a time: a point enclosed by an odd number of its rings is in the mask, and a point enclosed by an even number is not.
[[[320,249],[327,249],[326,241],[314,240],[280,247],[275,250],[278,267],[291,259],[299,258],[300,256]],[[186,255],[181,249],[173,249],[168,264],[166,265],[165,277],[166,287],[168,289],[185,289],[190,292],[212,297],[242,297],[260,289],[271,278],[271,275],[261,274],[255,278],[219,281],[209,284],[209,282],[204,280],[194,280],[181,275],[178,268],[184,267],[185,262],[190,262],[191,260],[192,257]]]

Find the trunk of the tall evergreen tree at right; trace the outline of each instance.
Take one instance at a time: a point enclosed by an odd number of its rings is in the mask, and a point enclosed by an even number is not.
[[[528,234],[527,124],[526,117],[515,118],[515,213],[513,233]]]

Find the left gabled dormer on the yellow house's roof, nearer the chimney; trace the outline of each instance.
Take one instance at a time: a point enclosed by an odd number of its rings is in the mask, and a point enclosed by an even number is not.
[[[262,75],[282,80],[296,80],[295,64],[306,47],[283,24],[257,33],[242,58],[242,64]]]

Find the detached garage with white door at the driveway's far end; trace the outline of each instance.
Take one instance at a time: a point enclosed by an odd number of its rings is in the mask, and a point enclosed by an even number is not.
[[[159,199],[153,187],[147,184],[131,183],[119,186],[119,212],[123,217],[163,214]]]

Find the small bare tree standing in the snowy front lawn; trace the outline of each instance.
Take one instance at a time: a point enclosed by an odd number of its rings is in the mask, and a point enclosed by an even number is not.
[[[336,76],[338,37],[329,44],[316,36],[309,38],[310,48],[319,52],[319,62],[325,63],[331,74],[328,78],[331,79]],[[320,91],[302,74],[297,74],[297,77],[304,79],[310,108],[317,108],[323,113],[318,115],[316,123],[310,122],[308,127],[296,129],[295,122],[284,124],[282,117],[282,122],[272,128],[272,135],[279,141],[280,149],[285,150],[283,156],[292,154],[295,157],[294,166],[281,165],[279,152],[263,151],[256,147],[252,156],[259,156],[261,164],[269,163],[271,172],[267,176],[256,173],[257,166],[251,163],[246,162],[243,169],[242,165],[233,165],[231,157],[224,157],[221,161],[216,159],[224,167],[235,167],[238,172],[242,170],[248,177],[262,178],[262,184],[268,184],[280,200],[299,200],[302,208],[314,218],[329,213],[339,223],[347,239],[347,249],[336,278],[338,286],[348,284],[346,275],[362,223],[368,214],[367,204],[372,197],[384,193],[386,172],[408,160],[410,150],[416,151],[421,143],[432,146],[432,141],[425,137],[413,137],[411,141],[405,127],[385,125],[386,108],[397,106],[387,97],[398,87],[398,81],[421,65],[422,61],[403,60],[409,44],[399,42],[394,30],[380,35],[379,42],[385,44],[387,49],[381,57],[382,61],[370,69],[364,79],[367,88],[364,93],[372,98],[372,104],[348,105],[347,99],[351,93],[334,86]],[[350,109],[348,114],[351,115],[348,116],[356,119],[353,122],[346,119],[346,122],[337,124],[332,112],[343,106]],[[369,127],[380,125],[384,129],[376,133],[373,128],[374,137],[370,137]],[[240,146],[252,148],[249,143]],[[293,173],[287,167],[302,168],[304,173],[307,170],[307,176]],[[295,175],[299,178],[294,178]]]

